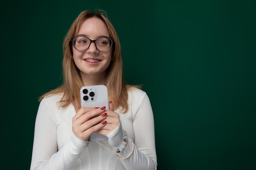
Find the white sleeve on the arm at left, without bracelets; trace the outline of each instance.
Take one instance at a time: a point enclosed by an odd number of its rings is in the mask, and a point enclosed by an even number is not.
[[[81,155],[87,141],[74,134],[64,147],[58,150],[56,117],[44,98],[38,107],[35,121],[34,143],[30,170],[69,170]]]

